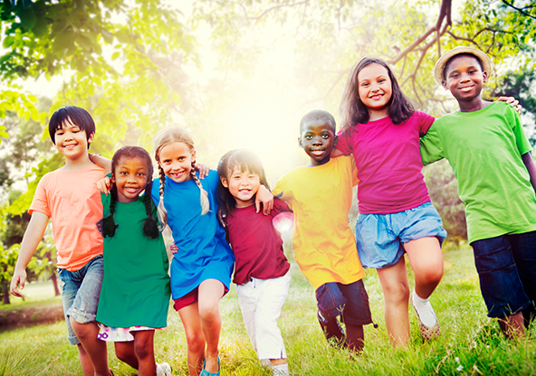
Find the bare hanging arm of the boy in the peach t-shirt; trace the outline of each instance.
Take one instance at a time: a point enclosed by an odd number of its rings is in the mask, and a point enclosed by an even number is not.
[[[14,296],[22,297],[23,293],[17,288],[19,285],[21,289],[24,288],[26,282],[26,267],[32,259],[35,253],[35,249],[39,245],[39,242],[43,239],[44,231],[46,230],[46,224],[48,223],[48,216],[40,211],[34,211],[28,228],[24,232],[23,242],[21,244],[21,250],[19,251],[19,258],[14,267],[13,278],[11,279],[11,294]]]

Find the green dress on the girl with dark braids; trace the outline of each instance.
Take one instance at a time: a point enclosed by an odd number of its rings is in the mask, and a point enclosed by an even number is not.
[[[110,195],[101,194],[104,217],[110,213]],[[153,214],[156,208],[152,200]],[[104,277],[97,321],[110,327],[167,325],[169,261],[164,240],[149,239],[142,224],[147,218],[144,197],[116,202],[115,235],[104,238]],[[156,218],[156,217],[155,217]]]

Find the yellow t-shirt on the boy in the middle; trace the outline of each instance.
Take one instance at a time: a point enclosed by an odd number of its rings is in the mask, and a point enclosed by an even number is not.
[[[274,195],[294,211],[294,259],[316,290],[328,282],[344,285],[364,276],[348,213],[358,170],[352,155],[284,174]]]

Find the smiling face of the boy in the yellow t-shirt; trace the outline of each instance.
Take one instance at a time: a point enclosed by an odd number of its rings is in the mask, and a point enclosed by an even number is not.
[[[298,142],[305,153],[311,157],[310,165],[328,163],[337,138],[330,123],[325,120],[311,120],[302,125],[300,132]]]

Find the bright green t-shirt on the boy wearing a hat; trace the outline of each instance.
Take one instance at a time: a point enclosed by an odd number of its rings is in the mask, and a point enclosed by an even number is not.
[[[446,158],[455,171],[469,242],[536,230],[536,195],[522,161],[530,151],[505,102],[445,115],[421,138],[423,164]]]

